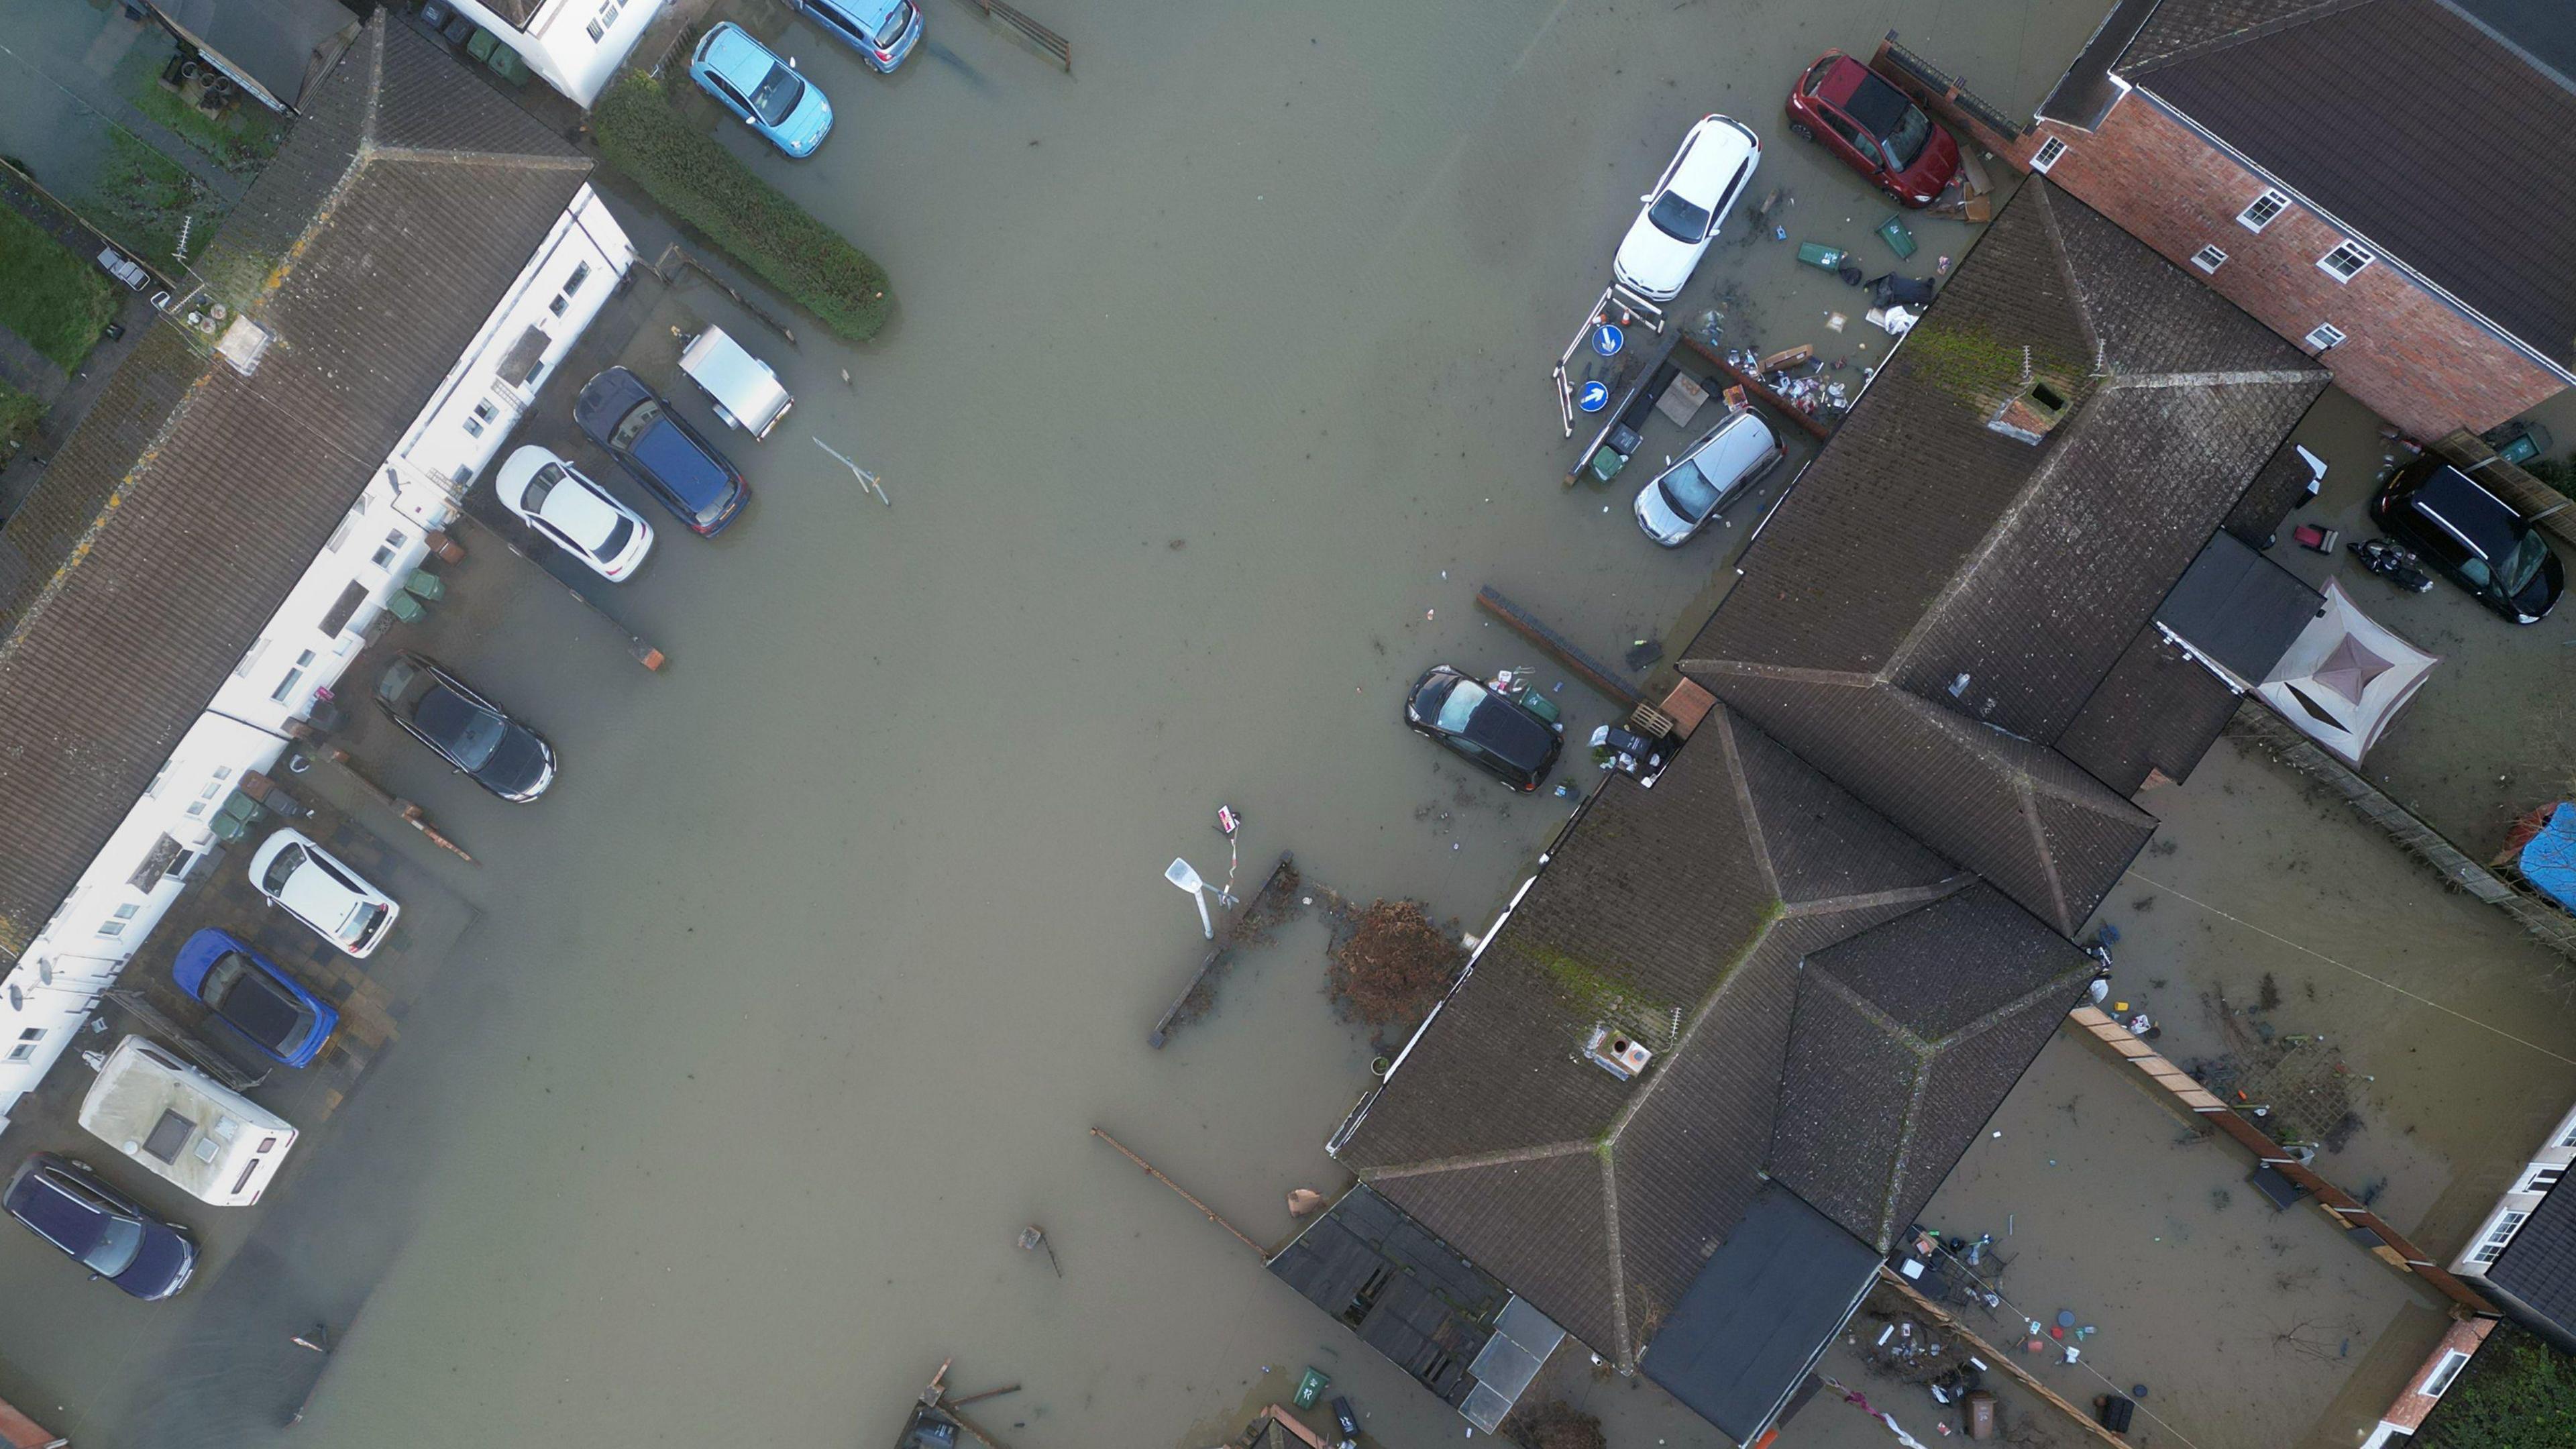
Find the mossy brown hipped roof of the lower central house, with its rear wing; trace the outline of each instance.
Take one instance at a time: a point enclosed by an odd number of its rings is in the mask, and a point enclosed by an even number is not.
[[[1942,910],[1960,897],[1973,905]],[[1654,789],[1605,784],[1334,1152],[1569,1333],[1628,1361],[1772,1165],[1790,1034],[1814,990],[1801,962],[1911,918],[1935,926],[1883,938],[1878,957],[1922,946],[1945,977],[1906,1008],[1932,1013],[1942,1034],[1940,1070],[1922,1073],[1937,1088],[1929,1106],[1909,1106],[1922,1083],[1888,1073],[1819,1080],[1798,1101],[1829,1119],[1919,1119],[1899,1134],[1904,1194],[1947,1173],[1965,1147],[1955,1124],[1973,1116],[1973,1132],[1994,1111],[2081,987],[2084,957],[1716,709]],[[2032,944],[2053,964],[2076,962],[2053,1008],[2025,1000]],[[1906,980],[1870,951],[1847,962],[1868,990]],[[2007,1000],[2035,1016],[1955,1026]],[[1584,1060],[1600,1021],[1656,1052],[1643,1078]],[[1852,1220],[1883,1214],[1862,1204]]]

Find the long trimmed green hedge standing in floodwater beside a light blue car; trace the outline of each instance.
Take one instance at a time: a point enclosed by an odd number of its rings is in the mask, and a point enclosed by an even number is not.
[[[626,72],[590,108],[600,155],[762,281],[853,343],[886,325],[886,271],[693,129],[662,83]]]

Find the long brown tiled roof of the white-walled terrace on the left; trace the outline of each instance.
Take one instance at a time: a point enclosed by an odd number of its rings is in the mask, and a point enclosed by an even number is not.
[[[152,784],[587,175],[384,13],[309,101],[204,263],[268,276],[252,317],[276,345],[260,369],[240,376],[157,327],[0,534],[8,957]]]

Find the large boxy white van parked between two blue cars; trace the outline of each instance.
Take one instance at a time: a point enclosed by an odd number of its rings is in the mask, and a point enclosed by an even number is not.
[[[250,1207],[278,1176],[296,1129],[276,1111],[126,1036],[98,1065],[80,1124],[198,1201]]]

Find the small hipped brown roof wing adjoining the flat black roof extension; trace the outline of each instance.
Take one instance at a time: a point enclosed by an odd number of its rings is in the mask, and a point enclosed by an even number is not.
[[[1772,1176],[1886,1253],[2048,1044],[2092,964],[1986,884],[1811,954]]]

